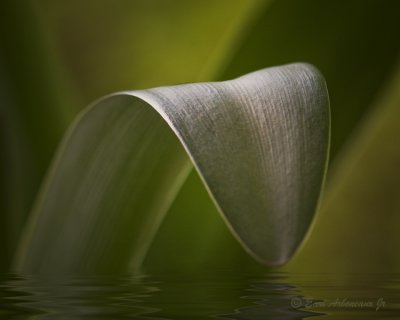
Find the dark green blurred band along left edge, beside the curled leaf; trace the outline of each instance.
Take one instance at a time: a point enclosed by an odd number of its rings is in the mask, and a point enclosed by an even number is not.
[[[0,270],[79,106],[34,2],[0,1]]]

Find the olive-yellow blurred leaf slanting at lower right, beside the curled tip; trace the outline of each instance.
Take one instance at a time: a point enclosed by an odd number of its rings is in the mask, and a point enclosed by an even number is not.
[[[288,270],[399,272],[399,89],[400,60],[332,167],[315,232]],[[332,254],[335,259],[329,259]]]

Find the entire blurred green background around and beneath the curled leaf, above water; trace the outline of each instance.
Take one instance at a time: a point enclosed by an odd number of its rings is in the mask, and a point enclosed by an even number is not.
[[[400,270],[399,2],[3,0],[0,39],[2,270],[62,135],[88,103],[298,61],[327,81],[331,165],[316,222],[284,269]],[[232,265],[259,268],[192,172],[145,268]]]

